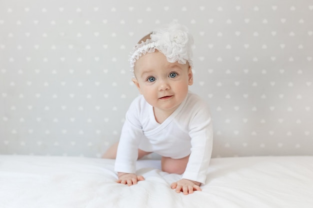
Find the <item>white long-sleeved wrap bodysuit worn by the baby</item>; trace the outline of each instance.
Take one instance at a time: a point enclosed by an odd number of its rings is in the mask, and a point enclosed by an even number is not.
[[[131,103],[118,144],[115,171],[135,173],[138,148],[189,161],[182,178],[202,184],[212,152],[212,123],[207,104],[188,92],[178,108],[161,124],[142,95]]]

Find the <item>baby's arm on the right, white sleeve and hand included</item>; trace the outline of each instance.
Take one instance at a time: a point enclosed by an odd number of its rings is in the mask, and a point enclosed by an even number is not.
[[[171,184],[171,188],[184,195],[201,191],[200,184],[205,184],[206,171],[212,152],[212,123],[207,104],[197,102],[192,106],[189,120],[191,153],[182,179]],[[197,171],[195,171],[197,170]]]

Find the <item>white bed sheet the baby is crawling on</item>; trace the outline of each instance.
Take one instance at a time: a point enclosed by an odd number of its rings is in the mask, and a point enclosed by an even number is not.
[[[145,181],[117,184],[114,160],[0,156],[0,208],[313,208],[313,157],[215,158],[202,192],[169,185],[180,175],[141,160]]]

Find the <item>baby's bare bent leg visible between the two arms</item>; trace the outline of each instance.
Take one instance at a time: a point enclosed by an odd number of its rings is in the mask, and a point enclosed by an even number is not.
[[[183,174],[185,172],[188,160],[189,156],[181,159],[162,157],[161,159],[162,171],[167,173]]]

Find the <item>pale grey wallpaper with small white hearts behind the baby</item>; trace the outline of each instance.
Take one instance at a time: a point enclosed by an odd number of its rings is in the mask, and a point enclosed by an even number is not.
[[[1,0],[0,153],[100,157],[138,95],[129,52],[172,20],[194,37],[213,157],[313,153],[311,0]]]

